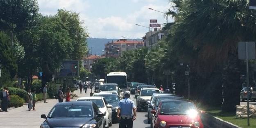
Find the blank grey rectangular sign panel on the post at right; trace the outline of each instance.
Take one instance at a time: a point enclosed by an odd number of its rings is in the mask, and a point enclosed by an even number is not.
[[[248,45],[248,59],[255,59],[255,42],[247,42]],[[246,42],[238,43],[238,58],[240,60],[246,59]]]

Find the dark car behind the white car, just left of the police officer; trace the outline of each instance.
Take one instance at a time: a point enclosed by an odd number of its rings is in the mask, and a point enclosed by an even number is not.
[[[104,97],[105,100],[112,106],[112,121],[118,122],[116,114],[120,97],[117,94],[97,94],[97,97]]]

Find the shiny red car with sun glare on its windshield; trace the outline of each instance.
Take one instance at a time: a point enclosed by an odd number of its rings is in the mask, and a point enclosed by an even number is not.
[[[184,100],[162,100],[155,116],[153,128],[204,128],[194,103]]]

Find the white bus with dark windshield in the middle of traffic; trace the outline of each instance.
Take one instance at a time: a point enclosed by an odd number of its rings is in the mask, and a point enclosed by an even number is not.
[[[117,83],[122,91],[127,90],[127,74],[125,72],[109,72],[106,75],[106,83]]]

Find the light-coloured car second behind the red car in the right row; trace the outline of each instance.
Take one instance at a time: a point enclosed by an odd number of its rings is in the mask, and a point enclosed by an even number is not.
[[[153,93],[150,101],[147,101],[147,123],[150,124],[151,121],[151,110],[152,110],[152,106],[154,106],[154,101],[157,98],[157,96],[159,95],[170,95],[169,93]]]

